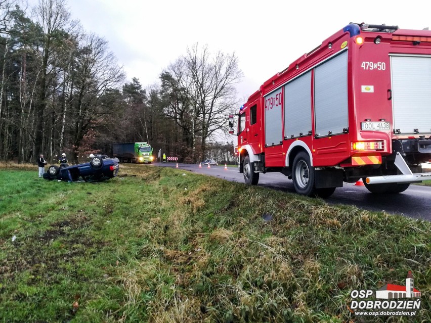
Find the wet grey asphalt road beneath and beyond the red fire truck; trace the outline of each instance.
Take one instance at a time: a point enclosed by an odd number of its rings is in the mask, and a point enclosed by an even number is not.
[[[159,164],[152,164],[158,166]],[[176,163],[161,164],[163,167],[176,167]],[[202,166],[194,164],[178,164],[180,169],[196,173],[220,177],[230,181],[244,182],[243,175],[236,167]],[[292,180],[281,173],[266,173],[259,177],[259,186],[294,193]],[[356,186],[355,183],[344,183],[342,188],[337,188],[329,198],[325,199],[330,204],[351,204],[357,207],[372,210],[384,210],[390,214],[402,214],[412,218],[421,218],[431,221],[431,187],[410,185],[400,194],[376,195],[371,194],[364,186]]]

